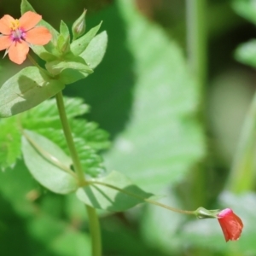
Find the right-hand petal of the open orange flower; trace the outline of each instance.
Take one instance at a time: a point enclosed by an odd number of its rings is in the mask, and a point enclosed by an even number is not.
[[[48,44],[51,38],[51,33],[44,26],[37,26],[32,28],[32,30],[26,32],[25,36],[26,42],[35,45]]]

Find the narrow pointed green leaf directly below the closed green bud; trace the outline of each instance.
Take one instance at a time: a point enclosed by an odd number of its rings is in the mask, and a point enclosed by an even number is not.
[[[71,51],[73,52],[74,55],[80,55],[84,51],[84,49],[86,49],[88,44],[90,44],[90,41],[92,40],[92,38],[96,36],[96,33],[99,31],[101,26],[102,26],[102,22],[98,26],[91,28],[90,31],[87,32],[84,36],[72,42],[70,46],[71,46]]]

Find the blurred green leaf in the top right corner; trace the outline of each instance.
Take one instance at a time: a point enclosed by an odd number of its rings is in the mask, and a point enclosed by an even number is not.
[[[253,22],[256,25],[256,7],[251,0],[233,0],[233,9],[238,15]]]

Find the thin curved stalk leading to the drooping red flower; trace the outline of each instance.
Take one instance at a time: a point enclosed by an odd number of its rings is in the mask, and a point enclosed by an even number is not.
[[[172,212],[178,212],[178,213],[183,213],[183,214],[190,214],[190,215],[195,215],[195,211],[185,211],[185,210],[181,210],[181,209],[177,209],[177,208],[174,208],[174,207],[168,207],[158,201],[154,201],[154,200],[151,200],[151,199],[147,199],[147,198],[143,198],[142,196],[140,195],[136,195],[136,194],[133,194],[129,191],[126,191],[125,189],[119,189],[118,187],[116,186],[113,186],[111,184],[108,184],[108,183],[102,183],[102,182],[99,182],[99,181],[88,181],[87,183],[90,183],[90,184],[99,184],[99,185],[102,185],[102,186],[105,186],[105,187],[108,187],[110,189],[115,189],[115,190],[118,190],[120,192],[122,192],[123,194],[126,194],[126,195],[130,195],[132,197],[135,197],[137,198],[138,200],[140,201],[146,201],[152,205],[155,205],[155,206],[158,206],[158,207],[162,207],[162,208],[166,208],[167,210],[170,210]]]

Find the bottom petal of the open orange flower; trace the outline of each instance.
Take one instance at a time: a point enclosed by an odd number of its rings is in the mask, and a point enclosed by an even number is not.
[[[16,64],[21,64],[26,60],[28,51],[29,47],[25,41],[14,42],[9,48],[9,59]]]

